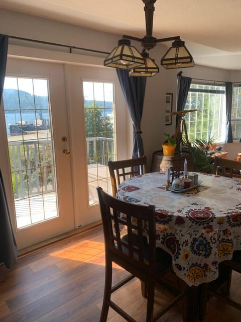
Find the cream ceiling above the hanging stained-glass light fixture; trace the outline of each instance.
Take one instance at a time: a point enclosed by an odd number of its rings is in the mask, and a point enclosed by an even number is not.
[[[1,0],[0,8],[115,34],[146,34],[142,0]],[[240,18],[241,0],[157,0],[153,36],[180,36],[196,64],[241,70]]]

